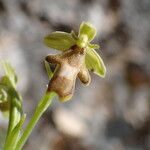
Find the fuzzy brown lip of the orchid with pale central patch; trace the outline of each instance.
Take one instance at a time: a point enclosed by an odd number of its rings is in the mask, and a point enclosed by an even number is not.
[[[48,55],[46,61],[58,64],[49,82],[48,91],[56,92],[60,101],[67,101],[73,96],[77,76],[83,84],[89,84],[90,75],[85,66],[85,49],[73,46],[62,54]]]

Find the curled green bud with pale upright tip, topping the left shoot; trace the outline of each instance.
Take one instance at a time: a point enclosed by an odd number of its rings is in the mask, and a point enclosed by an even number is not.
[[[0,108],[1,110],[8,111],[10,107],[5,109],[2,107],[7,102],[8,105],[13,105],[18,110],[18,115],[22,113],[22,100],[19,93],[16,91],[17,75],[12,66],[7,62],[2,62],[5,75],[0,80]],[[7,109],[6,109],[7,108]]]

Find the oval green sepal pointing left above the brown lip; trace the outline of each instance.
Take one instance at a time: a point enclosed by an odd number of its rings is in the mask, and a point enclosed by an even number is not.
[[[44,43],[50,48],[65,51],[76,44],[76,40],[70,33],[52,32],[44,38]]]

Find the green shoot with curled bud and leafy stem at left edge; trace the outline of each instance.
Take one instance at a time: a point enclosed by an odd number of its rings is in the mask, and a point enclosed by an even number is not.
[[[18,141],[20,130],[25,119],[22,111],[22,98],[16,90],[17,75],[13,67],[2,62],[5,75],[0,80],[0,110],[9,112],[9,126],[4,150],[12,150]]]

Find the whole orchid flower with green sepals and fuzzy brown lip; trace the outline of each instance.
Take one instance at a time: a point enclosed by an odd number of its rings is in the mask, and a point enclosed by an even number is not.
[[[78,35],[56,31],[44,38],[44,43],[50,48],[62,51],[61,54],[48,55],[45,60],[50,64],[56,64],[52,73],[46,62],[46,69],[51,80],[48,92],[56,92],[60,101],[69,100],[74,93],[76,78],[89,85],[91,78],[89,71],[100,77],[105,77],[106,68],[103,60],[94,49],[99,45],[90,42],[96,36],[93,25],[83,22],[80,25]]]

